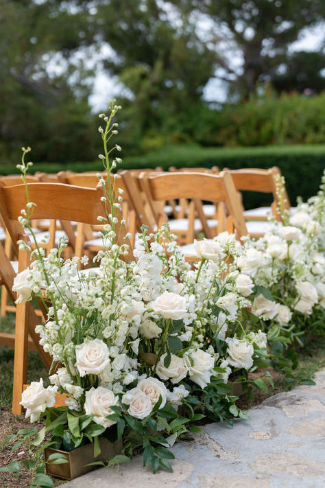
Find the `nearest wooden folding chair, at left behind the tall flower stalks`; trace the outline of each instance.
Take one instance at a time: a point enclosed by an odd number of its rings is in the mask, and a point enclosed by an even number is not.
[[[97,216],[105,214],[101,196],[103,189],[98,185],[95,189],[73,187],[59,183],[29,183],[27,185],[29,200],[36,203],[33,217],[36,219],[62,219],[75,222],[95,224]],[[25,185],[15,187],[0,186],[0,211],[5,225],[12,237],[12,242],[16,243],[20,239],[28,239],[22,235],[18,218],[21,216],[21,209],[26,205]],[[117,235],[121,240],[125,237],[125,227],[117,224]],[[17,247],[17,246],[16,246]],[[26,251],[18,251],[19,272],[25,269],[29,262]],[[125,259],[132,259],[130,249]],[[14,387],[12,411],[20,414],[22,411],[21,393],[27,379],[27,345],[28,332],[35,334],[30,321],[29,307],[30,302],[19,303],[16,305],[16,329],[15,329],[15,351],[14,351]]]

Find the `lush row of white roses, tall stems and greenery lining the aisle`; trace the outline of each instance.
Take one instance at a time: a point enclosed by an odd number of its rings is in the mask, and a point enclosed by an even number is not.
[[[106,123],[99,128],[99,159],[108,176],[121,163],[110,162],[112,150],[121,148],[108,148],[119,108],[111,102],[110,115],[99,115]],[[23,178],[26,152],[19,165]],[[322,292],[310,292],[324,288],[324,255],[314,231],[274,223],[263,239],[244,246],[226,232],[195,242],[198,259],[191,265],[163,226],[153,233],[143,228],[134,261],[125,262],[130,236],[120,243],[116,231],[123,192],[109,177],[108,183],[99,178],[106,215],[99,216],[103,250],[94,258],[96,268],[80,271],[87,257],[64,260],[64,238],[48,256],[37,245],[33,251],[19,242],[33,262],[14,281],[17,301],[42,301],[47,322],[36,332],[53,358],[50,386],[32,382],[21,404],[32,422],[45,418],[36,445],[48,434],[46,446],[71,450],[91,442],[98,456],[101,437],[122,438],[123,452],[110,465],[143,450],[145,466],[171,471],[169,448],[187,432],[200,431],[197,423],[204,417],[246,418],[236,406],[234,384],[267,390],[261,378],[250,380],[249,371],[271,364],[288,369],[282,351],[296,332],[288,338],[281,331],[291,333],[292,314],[309,318],[316,303],[324,307]],[[319,203],[311,202],[309,214]],[[32,237],[33,205],[21,216]],[[315,272],[317,264],[321,272]],[[269,373],[264,379],[272,385]],[[67,396],[66,406],[53,408],[57,392]],[[64,456],[52,461],[66,462]]]

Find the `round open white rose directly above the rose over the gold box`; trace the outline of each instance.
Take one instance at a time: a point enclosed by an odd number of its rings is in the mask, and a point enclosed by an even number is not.
[[[89,340],[75,347],[75,367],[80,376],[99,375],[110,364],[108,347],[100,339]]]

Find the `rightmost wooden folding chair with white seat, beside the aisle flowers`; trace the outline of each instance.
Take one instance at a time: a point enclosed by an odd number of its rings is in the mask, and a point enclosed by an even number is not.
[[[280,205],[289,211],[290,201],[285,187],[282,187],[283,201],[280,202],[278,195],[278,185],[281,183],[281,172],[278,167],[271,167],[269,170],[259,170],[257,168],[246,168],[242,170],[224,170],[232,176],[234,186],[238,191],[256,191],[272,194],[273,202],[271,207],[259,207],[256,209],[245,210],[242,207],[243,216],[246,221],[248,233],[252,237],[262,237],[267,231],[267,213],[272,213],[276,220],[281,220],[278,213]],[[263,222],[264,221],[264,222]]]

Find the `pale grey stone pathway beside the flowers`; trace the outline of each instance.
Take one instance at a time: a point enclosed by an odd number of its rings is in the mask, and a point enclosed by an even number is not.
[[[98,469],[64,488],[324,488],[325,370],[315,386],[279,393],[252,408],[234,428],[211,423],[176,444],[173,473],[152,474],[142,456]]]

